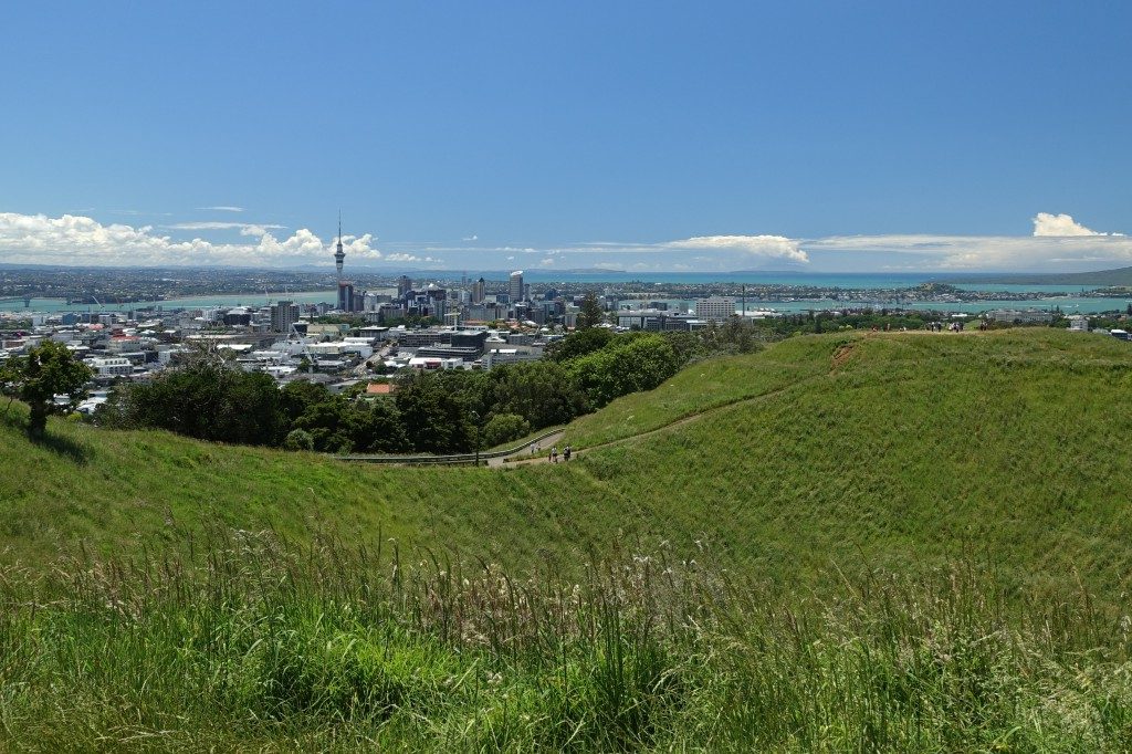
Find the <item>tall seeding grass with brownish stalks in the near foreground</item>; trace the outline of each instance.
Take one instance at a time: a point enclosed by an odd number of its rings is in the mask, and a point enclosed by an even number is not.
[[[977,568],[818,599],[668,547],[574,581],[380,539],[192,549],[0,572],[0,747],[1132,746],[1127,618]]]

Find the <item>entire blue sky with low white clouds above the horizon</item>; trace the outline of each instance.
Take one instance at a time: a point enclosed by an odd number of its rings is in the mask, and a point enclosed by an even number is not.
[[[5,26],[0,262],[329,265],[341,208],[348,265],[388,268],[1132,264],[1130,3],[15,3]]]

